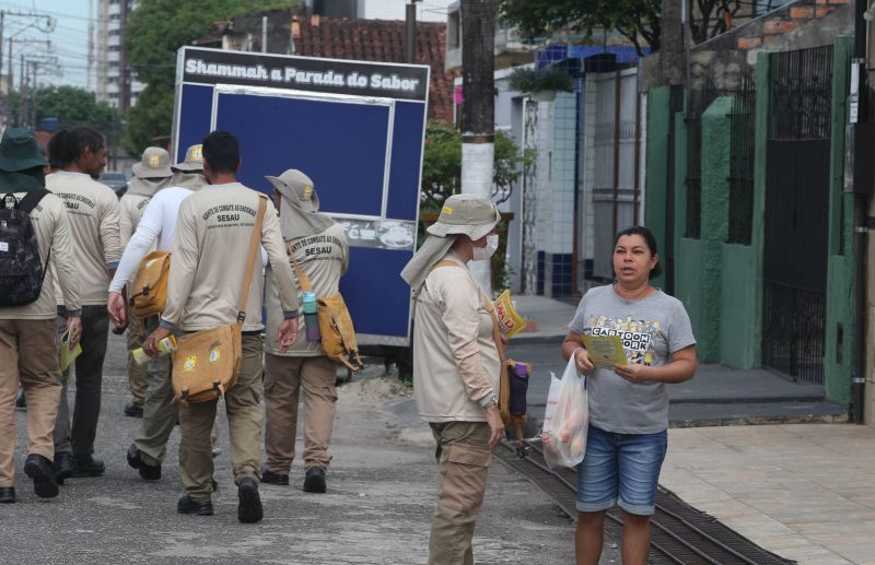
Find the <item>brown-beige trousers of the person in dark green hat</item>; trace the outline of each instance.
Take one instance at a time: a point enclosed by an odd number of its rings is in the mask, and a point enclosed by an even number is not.
[[[55,459],[61,399],[55,320],[0,320],[0,486],[14,486],[15,397],[27,400],[27,452]]]

